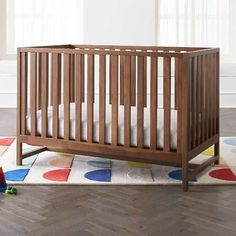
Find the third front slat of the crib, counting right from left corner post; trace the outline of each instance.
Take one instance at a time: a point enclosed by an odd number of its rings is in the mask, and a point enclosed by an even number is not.
[[[59,76],[60,76],[60,55],[52,54],[52,106],[53,106],[53,138],[58,138],[59,129],[59,113],[58,113],[58,93],[59,91]]]

